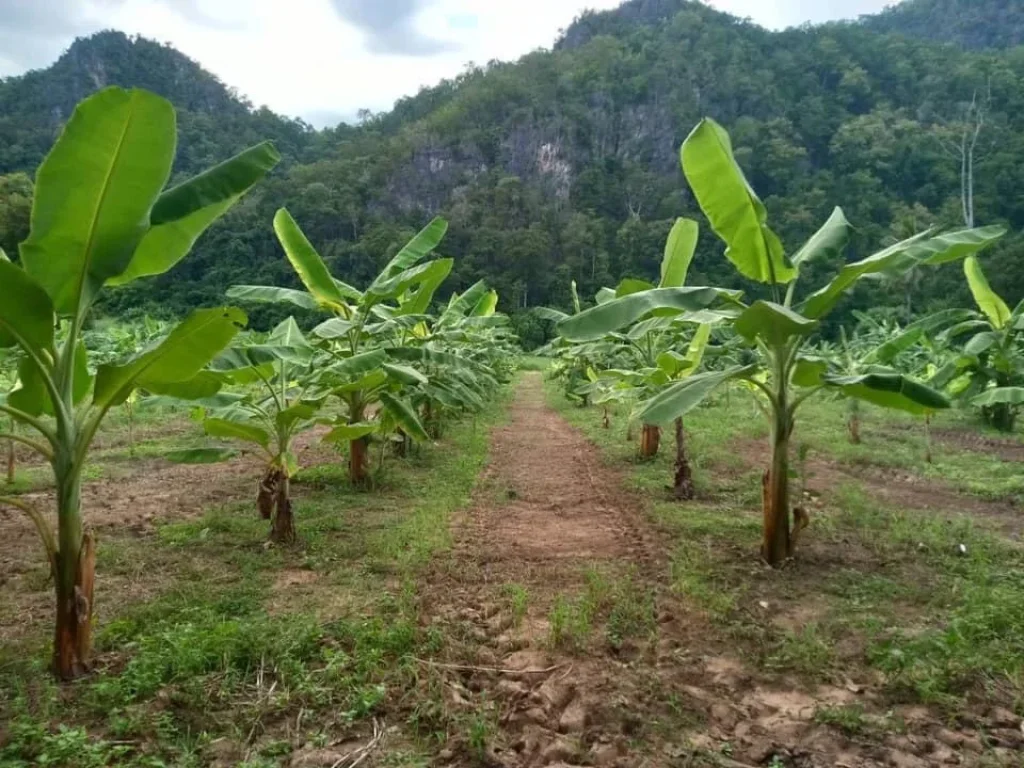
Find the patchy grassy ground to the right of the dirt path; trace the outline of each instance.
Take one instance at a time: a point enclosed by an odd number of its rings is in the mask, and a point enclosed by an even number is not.
[[[736,389],[687,417],[698,499],[686,504],[670,496],[671,433],[663,435],[657,458],[639,461],[636,443],[625,439],[625,411],[613,410],[607,429],[601,409],[568,402],[554,382],[548,395],[602,447],[609,465],[632,463],[629,481],[649,500],[669,542],[673,590],[707,620],[715,654],[754,670],[745,685],[835,689],[844,695],[819,705],[813,723],[879,743],[900,738],[905,719],[926,708],[936,729],[948,723],[963,731],[949,737],[954,752],[977,745],[984,753],[973,758],[982,761],[977,764],[1016,764],[1008,756],[1024,746],[1018,728],[1024,548],[1016,530],[1007,537],[987,516],[958,512],[948,502],[958,490],[1012,511],[1024,480],[1007,457],[986,452],[984,441],[962,447],[976,443],[962,437],[974,427],[963,415],[943,415],[933,424],[943,439],[934,441],[929,464],[919,422],[865,408],[864,442],[851,445],[843,403],[809,408],[795,442],[806,441],[811,458],[807,476],[795,477],[794,487],[798,498],[805,483],[814,488],[800,502],[812,522],[797,558],[773,570],[757,556],[767,461],[767,449],[759,446],[766,430],[753,406],[750,419],[736,418],[749,399],[744,392]],[[1012,446],[1017,438],[1002,439]],[[815,468],[825,466],[843,471],[815,478]],[[924,488],[925,502],[929,487],[955,490],[943,490],[925,508],[893,505],[860,482],[864,467],[898,471]],[[988,503],[959,499],[959,509]]]

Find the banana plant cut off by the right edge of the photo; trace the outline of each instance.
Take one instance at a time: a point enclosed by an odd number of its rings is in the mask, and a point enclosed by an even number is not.
[[[987,424],[1011,432],[1024,404],[1024,301],[1011,311],[977,257],[965,260],[964,272],[978,311],[943,333],[943,341],[963,346],[937,381],[981,409]]]

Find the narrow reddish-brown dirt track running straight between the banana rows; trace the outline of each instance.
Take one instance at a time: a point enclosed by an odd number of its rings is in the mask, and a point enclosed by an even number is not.
[[[455,638],[434,667],[450,710],[497,702],[500,736],[484,764],[616,764],[638,726],[620,678],[643,651],[569,655],[549,642],[548,616],[559,596],[585,589],[588,568],[647,585],[667,561],[623,477],[547,407],[540,375],[523,377],[508,424],[494,431],[488,468],[454,538],[424,612]],[[518,622],[507,585],[528,594]],[[457,737],[440,759],[479,765],[481,756]]]

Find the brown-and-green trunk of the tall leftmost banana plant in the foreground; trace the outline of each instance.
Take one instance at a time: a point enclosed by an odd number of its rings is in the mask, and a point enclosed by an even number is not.
[[[89,671],[92,651],[95,541],[82,529],[82,481],[70,460],[58,461],[57,556],[53,574],[56,590],[56,630],[53,673],[73,680]]]

